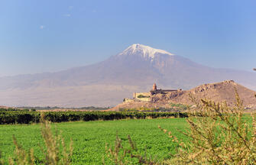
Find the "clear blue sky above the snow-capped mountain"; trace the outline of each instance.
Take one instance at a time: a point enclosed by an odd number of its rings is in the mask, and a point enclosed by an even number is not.
[[[2,0],[0,76],[85,66],[131,44],[251,71],[255,8],[254,0]]]

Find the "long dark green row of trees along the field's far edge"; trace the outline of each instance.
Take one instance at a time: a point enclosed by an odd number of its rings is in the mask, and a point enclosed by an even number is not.
[[[47,121],[96,121],[125,118],[183,118],[186,112],[44,112]],[[1,124],[30,124],[40,122],[41,112],[0,111]]]

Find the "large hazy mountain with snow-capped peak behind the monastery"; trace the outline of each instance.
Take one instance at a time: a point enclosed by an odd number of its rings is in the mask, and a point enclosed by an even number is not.
[[[148,91],[154,82],[163,89],[190,89],[225,79],[256,89],[255,73],[215,69],[165,50],[133,44],[93,65],[2,77],[0,105],[112,106],[132,92]]]

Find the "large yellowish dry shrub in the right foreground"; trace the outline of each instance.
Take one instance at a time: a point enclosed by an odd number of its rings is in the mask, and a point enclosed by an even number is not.
[[[237,92],[235,107],[207,99],[192,100],[197,109],[186,118],[190,129],[182,132],[190,138],[190,143],[184,143],[159,126],[177,144],[177,154],[161,164],[256,164],[256,115],[251,114],[251,122],[248,120]],[[120,150],[125,156],[134,158],[131,153],[136,150],[122,147],[117,138],[115,150],[111,147],[107,150],[115,164],[129,163],[122,161],[124,156],[118,154]],[[135,158],[140,160],[141,156]],[[147,160],[144,164],[157,163]]]

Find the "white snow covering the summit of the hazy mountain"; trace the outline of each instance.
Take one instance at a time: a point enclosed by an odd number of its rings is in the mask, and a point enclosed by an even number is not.
[[[133,54],[139,54],[142,57],[146,58],[154,58],[155,54],[157,53],[162,53],[162,54],[168,54],[172,56],[172,53],[169,53],[165,50],[160,50],[160,49],[154,49],[153,47],[148,47],[143,44],[132,44],[130,47],[125,49],[122,53],[119,53],[118,56],[121,55],[133,55]]]

